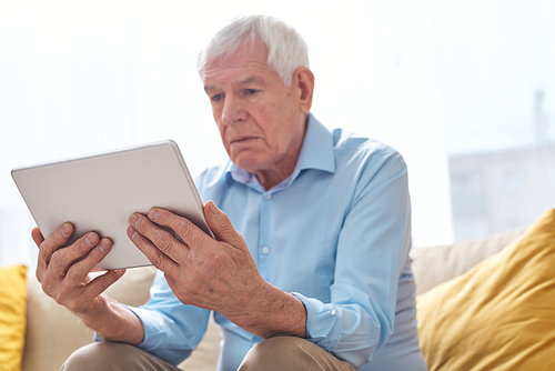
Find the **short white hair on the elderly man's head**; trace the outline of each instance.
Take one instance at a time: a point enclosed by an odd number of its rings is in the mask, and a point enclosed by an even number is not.
[[[268,66],[289,87],[299,67],[309,67],[309,47],[301,34],[280,19],[240,16],[221,29],[199,54],[199,73],[218,57],[235,51],[242,42],[260,39],[268,48]]]

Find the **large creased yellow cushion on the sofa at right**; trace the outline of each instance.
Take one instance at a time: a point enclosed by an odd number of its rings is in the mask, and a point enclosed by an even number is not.
[[[555,210],[417,310],[430,370],[555,370]]]

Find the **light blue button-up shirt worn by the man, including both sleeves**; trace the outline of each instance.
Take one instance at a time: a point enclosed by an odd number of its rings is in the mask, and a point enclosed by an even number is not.
[[[232,162],[204,171],[196,187],[230,217],[260,274],[302,300],[310,341],[355,368],[426,370],[408,258],[407,173],[395,150],[330,132],[309,116],[295,170],[271,190]],[[160,273],[150,301],[131,310],[144,325],[139,347],[173,364],[190,355],[210,317],[182,304]],[[262,339],[218,312],[214,319],[223,337],[218,370],[235,370]]]

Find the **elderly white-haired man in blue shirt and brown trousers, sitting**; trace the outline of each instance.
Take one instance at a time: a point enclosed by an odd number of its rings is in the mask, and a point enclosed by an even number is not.
[[[176,370],[213,311],[219,370],[426,370],[401,156],[310,113],[307,48],[282,21],[236,19],[199,72],[231,160],[196,181],[216,239],[167,210],[131,215],[130,239],[160,271],[150,301],[129,308],[102,293],[123,271],[88,275],[110,240],[60,249],[71,224],[46,240],[33,230],[43,290],[97,332],[63,368]]]

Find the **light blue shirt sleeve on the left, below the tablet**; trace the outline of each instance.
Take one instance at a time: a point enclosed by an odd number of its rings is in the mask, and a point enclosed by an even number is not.
[[[191,355],[204,337],[210,311],[180,302],[160,271],[150,292],[150,300],[144,305],[129,307],[144,327],[144,340],[138,347],[178,365]]]

